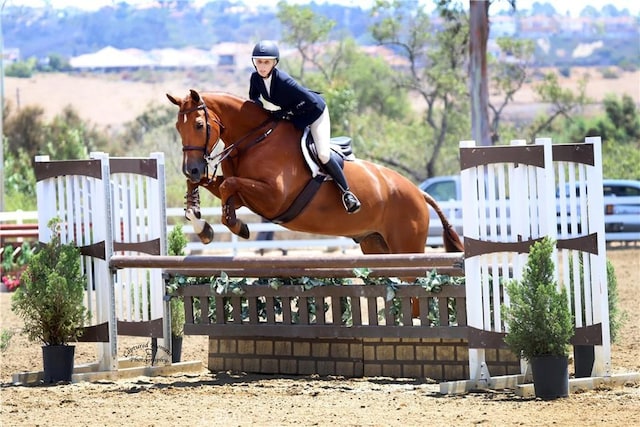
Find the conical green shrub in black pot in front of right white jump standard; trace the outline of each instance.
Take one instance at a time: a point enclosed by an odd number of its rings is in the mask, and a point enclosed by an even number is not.
[[[507,346],[531,364],[537,397],[569,394],[568,351],[574,328],[567,291],[558,290],[552,253],[555,242],[545,237],[529,252],[522,280],[507,283],[510,305],[504,306]]]

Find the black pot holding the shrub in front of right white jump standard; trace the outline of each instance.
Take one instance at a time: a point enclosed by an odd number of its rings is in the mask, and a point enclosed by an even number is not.
[[[556,399],[569,396],[569,359],[566,356],[531,358],[536,397]]]

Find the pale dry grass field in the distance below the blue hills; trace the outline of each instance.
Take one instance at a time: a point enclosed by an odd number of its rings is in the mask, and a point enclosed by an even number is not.
[[[544,71],[544,70],[541,70]],[[563,87],[576,89],[578,80],[590,76],[587,95],[597,103],[605,95],[628,94],[640,103],[640,71],[619,72],[618,79],[605,79],[598,68],[574,68],[570,78],[560,78]],[[154,82],[133,81],[127,74],[37,74],[29,79],[7,77],[5,93],[14,106],[39,105],[47,119],[71,105],[81,117],[105,128],[118,127],[135,119],[150,105],[167,103],[166,93],[182,96],[191,88],[223,90],[247,96],[249,74],[173,73]],[[533,83],[535,84],[535,83]],[[527,84],[515,97],[506,113],[519,114],[525,106],[536,105],[532,84]],[[527,108],[530,111],[529,108]],[[535,108],[534,108],[535,110]]]

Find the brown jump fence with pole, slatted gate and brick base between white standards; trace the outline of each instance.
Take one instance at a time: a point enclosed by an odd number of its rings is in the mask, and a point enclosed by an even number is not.
[[[222,272],[243,278],[357,278],[357,268],[367,269],[369,278],[428,277],[434,270],[464,276],[462,253],[439,252],[323,258],[117,255],[109,264],[112,270],[159,268],[165,280]],[[209,337],[212,371],[436,379],[469,374],[467,340],[474,331],[467,325],[464,285],[221,283],[177,290],[184,298],[185,334]],[[517,358],[498,351],[488,365],[516,372]]]

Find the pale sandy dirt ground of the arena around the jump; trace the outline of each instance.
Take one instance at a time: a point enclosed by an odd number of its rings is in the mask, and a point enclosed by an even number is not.
[[[609,247],[620,306],[628,314],[612,346],[614,374],[640,372],[640,248]],[[15,386],[12,374],[41,369],[41,350],[19,330],[11,294],[0,294],[2,329],[16,334],[0,362],[3,426],[627,426],[638,422],[640,382],[571,393],[553,401],[510,391],[441,395],[428,378],[327,378],[209,372],[205,337],[186,337],[185,361],[200,360],[199,373],[136,377],[57,386]],[[122,348],[136,345],[128,338]],[[148,343],[146,343],[148,344]],[[119,349],[120,353],[120,349]],[[76,363],[94,357],[94,344],[78,344]],[[572,369],[570,368],[570,371]],[[635,421],[634,421],[635,420]]]

